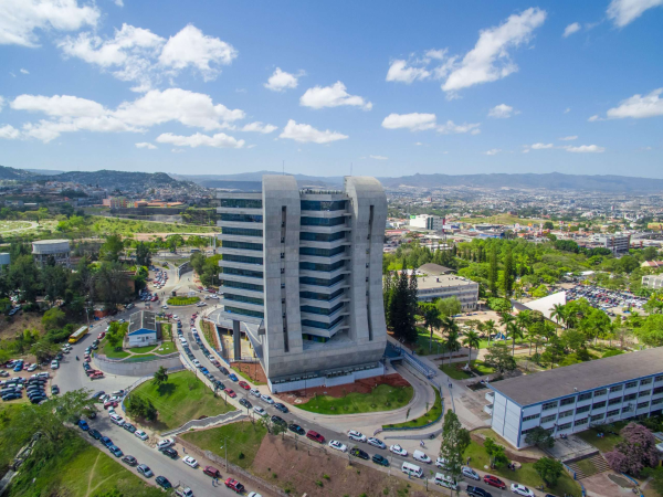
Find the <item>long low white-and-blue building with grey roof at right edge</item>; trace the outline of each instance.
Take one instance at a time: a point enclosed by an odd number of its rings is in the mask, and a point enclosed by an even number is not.
[[[493,430],[516,448],[541,426],[555,437],[663,410],[663,347],[488,383]]]

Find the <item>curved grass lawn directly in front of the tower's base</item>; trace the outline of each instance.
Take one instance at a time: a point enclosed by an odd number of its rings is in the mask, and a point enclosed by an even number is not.
[[[393,411],[407,405],[414,394],[412,387],[390,387],[380,384],[370,393],[348,393],[337,399],[328,395],[317,395],[299,409],[318,414],[356,414],[360,412]]]

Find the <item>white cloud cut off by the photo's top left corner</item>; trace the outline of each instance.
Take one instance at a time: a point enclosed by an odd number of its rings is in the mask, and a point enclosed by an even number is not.
[[[39,46],[35,30],[76,31],[95,27],[101,12],[93,2],[77,0],[2,0],[0,45]]]

